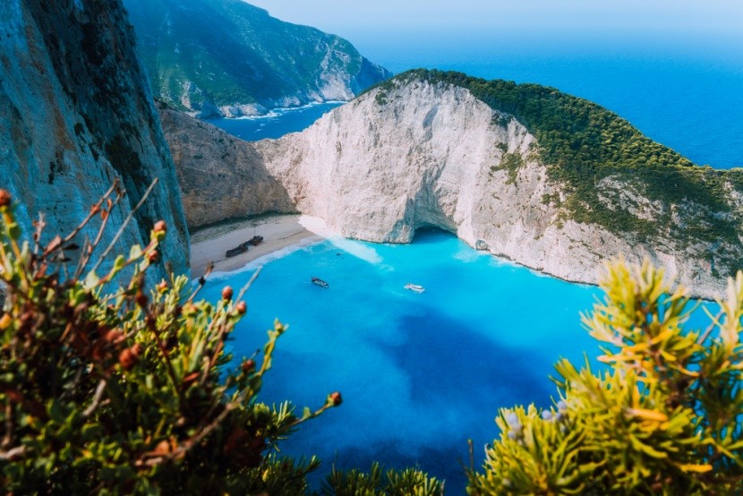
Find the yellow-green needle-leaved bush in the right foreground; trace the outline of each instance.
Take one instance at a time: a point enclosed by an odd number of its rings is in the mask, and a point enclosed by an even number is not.
[[[645,263],[609,266],[583,317],[601,372],[557,365],[559,401],[503,409],[469,494],[732,494],[743,491],[743,273],[704,331],[687,292]]]

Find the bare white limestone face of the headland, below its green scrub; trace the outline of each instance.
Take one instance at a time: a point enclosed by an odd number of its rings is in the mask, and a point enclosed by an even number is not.
[[[586,283],[621,253],[662,264],[704,297],[724,287],[713,274],[715,252],[740,255],[739,245],[711,246],[693,231],[642,239],[570,218],[560,207],[568,185],[550,178],[525,125],[444,82],[372,90],[303,133],[255,146],[298,210],[349,237],[406,243],[418,227],[441,227],[478,249]],[[633,184],[607,181],[602,192],[611,209],[640,217],[672,209],[683,225],[698,213],[693,202],[647,200]]]

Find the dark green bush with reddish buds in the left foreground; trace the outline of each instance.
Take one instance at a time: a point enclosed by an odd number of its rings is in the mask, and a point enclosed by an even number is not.
[[[319,461],[281,459],[272,449],[340,395],[301,415],[287,403],[257,401],[282,324],[260,357],[230,368],[224,346],[245,313],[242,294],[233,298],[226,287],[218,304],[196,301],[184,277],[147,287],[164,223],[148,246],[93,263],[97,240],[79,246],[73,233],[41,244],[43,220],[35,243],[21,243],[9,195],[0,193],[0,278],[9,288],[0,317],[0,487],[304,491],[304,475]],[[103,229],[118,200],[99,202],[86,222],[100,216]],[[78,253],[74,268],[68,253]]]

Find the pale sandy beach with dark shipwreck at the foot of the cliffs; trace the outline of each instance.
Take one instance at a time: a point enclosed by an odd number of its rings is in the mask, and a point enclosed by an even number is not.
[[[253,234],[263,236],[263,242],[235,257],[226,257],[227,250],[248,241]],[[218,272],[240,269],[286,246],[317,243],[330,234],[321,218],[300,214],[262,216],[206,227],[191,235],[192,278],[201,277],[209,261],[214,262]]]

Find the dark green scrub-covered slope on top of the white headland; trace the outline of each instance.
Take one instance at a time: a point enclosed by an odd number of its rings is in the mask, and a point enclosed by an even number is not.
[[[720,243],[728,244],[736,249],[708,255],[713,269],[728,275],[743,267],[739,237],[743,212],[730,201],[730,189],[743,192],[743,169],[698,167],[650,140],[619,115],[536,84],[414,70],[381,83],[378,101],[386,100],[385,90],[393,85],[416,80],[463,87],[525,124],[539,141],[540,159],[551,179],[562,184],[566,193],[560,204],[566,218],[636,236],[637,241],[664,238],[678,240],[682,246],[685,241],[698,241],[712,250]],[[616,201],[607,205],[600,200],[599,183],[605,178],[628,184],[662,208],[653,218],[639,218]],[[559,202],[556,198],[545,201]]]

